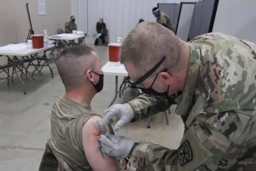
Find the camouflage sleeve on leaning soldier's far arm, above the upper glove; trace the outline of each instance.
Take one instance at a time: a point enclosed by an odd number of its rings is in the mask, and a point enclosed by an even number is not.
[[[135,112],[135,120],[144,119],[150,115],[167,110],[172,104],[176,104],[175,96],[158,97],[154,95],[142,94],[128,104]]]

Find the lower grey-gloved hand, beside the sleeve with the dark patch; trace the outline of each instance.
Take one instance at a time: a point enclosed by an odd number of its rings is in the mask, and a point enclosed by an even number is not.
[[[118,159],[127,157],[132,149],[133,140],[124,136],[115,136],[110,133],[97,137],[102,146],[101,151]]]

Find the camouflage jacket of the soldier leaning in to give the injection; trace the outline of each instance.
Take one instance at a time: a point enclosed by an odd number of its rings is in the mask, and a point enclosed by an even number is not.
[[[185,132],[180,147],[139,143],[127,170],[227,170],[256,167],[256,44],[220,33],[188,42],[184,91],[129,102],[135,120],[177,104]]]

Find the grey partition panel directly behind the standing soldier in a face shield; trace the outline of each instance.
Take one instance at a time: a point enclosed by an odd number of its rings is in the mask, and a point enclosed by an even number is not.
[[[174,25],[174,28],[176,30],[179,14],[180,14],[180,6],[181,4],[165,4],[165,3],[158,3],[157,7],[161,12],[164,12],[169,16],[169,18],[172,20],[172,23]]]

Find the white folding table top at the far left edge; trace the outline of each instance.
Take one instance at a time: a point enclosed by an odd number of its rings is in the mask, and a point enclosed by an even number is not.
[[[27,43],[20,43],[20,44],[27,44]],[[22,50],[17,50],[17,51],[12,51],[12,50],[1,50],[0,51],[0,55],[10,55],[10,56],[28,56],[31,54],[35,54],[38,52],[43,52],[44,50],[53,48],[53,45],[50,45],[48,47],[45,48],[40,48],[40,49],[34,49],[34,48],[26,48],[26,49],[22,49]]]

